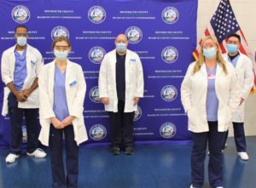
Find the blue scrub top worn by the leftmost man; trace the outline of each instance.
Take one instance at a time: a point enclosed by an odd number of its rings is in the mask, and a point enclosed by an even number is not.
[[[26,48],[20,54],[15,49],[15,72],[14,72],[14,85],[16,90],[20,91],[23,87],[24,81],[27,76],[26,71]]]

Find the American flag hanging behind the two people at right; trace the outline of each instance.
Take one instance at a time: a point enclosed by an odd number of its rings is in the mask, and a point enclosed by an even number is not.
[[[218,39],[220,48],[222,49],[222,53],[225,54],[227,52],[226,39],[229,35],[233,33],[236,33],[241,37],[241,45],[239,47],[239,51],[241,52],[241,54],[246,54],[249,58],[253,60],[254,59],[253,54],[248,48],[246,38],[244,37],[244,34],[241,31],[241,28],[236,20],[236,16],[233,12],[233,9],[231,8],[230,1],[221,0],[220,3],[218,4],[218,9],[213,14],[210,24],[207,26],[207,29],[203,37],[209,36],[209,35],[215,35],[215,37],[217,37]],[[195,60],[198,60],[198,57],[199,57],[200,44],[201,44],[201,41],[199,42],[199,45],[193,52],[193,56],[195,57]],[[255,61],[253,60],[253,62]],[[254,72],[254,86],[252,88],[253,93],[256,92],[255,70],[256,70],[256,66],[255,66],[255,63],[253,63],[253,72]]]

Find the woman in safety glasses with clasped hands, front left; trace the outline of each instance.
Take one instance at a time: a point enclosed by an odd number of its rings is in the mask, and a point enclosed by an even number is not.
[[[49,146],[52,187],[75,188],[79,178],[79,144],[88,140],[83,115],[84,72],[67,59],[71,50],[67,37],[56,37],[52,48],[55,60],[44,66],[38,80],[42,126],[39,140]],[[63,165],[63,135],[67,170]]]

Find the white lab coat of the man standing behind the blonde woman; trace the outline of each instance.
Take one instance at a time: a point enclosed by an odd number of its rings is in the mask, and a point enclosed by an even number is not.
[[[224,55],[224,59],[229,61],[228,54]],[[253,88],[253,64],[246,55],[240,54],[236,64],[236,76],[241,89],[241,98],[247,100],[250,91]],[[238,106],[232,117],[232,122],[244,122],[245,101]]]

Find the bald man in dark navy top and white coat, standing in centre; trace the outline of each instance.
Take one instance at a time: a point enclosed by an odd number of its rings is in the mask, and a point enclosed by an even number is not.
[[[143,66],[139,56],[127,49],[124,34],[115,39],[116,48],[105,55],[99,74],[99,94],[109,112],[111,153],[119,155],[120,146],[132,155],[133,117],[137,103],[143,98]]]

